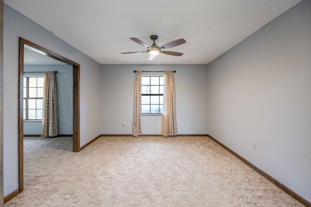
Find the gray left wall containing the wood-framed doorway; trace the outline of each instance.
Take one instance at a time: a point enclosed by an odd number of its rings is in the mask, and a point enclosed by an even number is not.
[[[3,176],[4,196],[18,188],[18,37],[80,64],[80,146],[100,134],[100,64],[4,4]]]

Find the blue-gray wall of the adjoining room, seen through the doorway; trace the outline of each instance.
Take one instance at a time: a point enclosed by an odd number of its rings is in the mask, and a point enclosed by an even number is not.
[[[57,71],[55,74],[57,85],[58,134],[72,134],[72,66],[68,64],[52,65],[24,65],[24,72]],[[34,73],[29,73],[33,75]],[[37,73],[35,73],[38,75]],[[39,75],[44,75],[40,73]],[[24,121],[24,134],[41,134],[42,121]]]

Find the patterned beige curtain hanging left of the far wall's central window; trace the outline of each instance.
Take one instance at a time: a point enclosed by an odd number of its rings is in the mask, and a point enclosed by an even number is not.
[[[141,71],[137,71],[134,83],[134,112],[132,123],[132,135],[134,137],[138,137],[139,135],[141,135],[140,103],[141,103]]]

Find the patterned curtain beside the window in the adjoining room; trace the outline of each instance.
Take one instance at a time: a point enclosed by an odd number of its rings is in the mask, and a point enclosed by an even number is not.
[[[57,89],[55,73],[44,72],[43,115],[41,137],[55,137],[57,128]]]

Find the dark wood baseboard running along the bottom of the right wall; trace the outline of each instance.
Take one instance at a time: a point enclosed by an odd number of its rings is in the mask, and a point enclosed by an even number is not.
[[[269,180],[270,182],[272,182],[273,184],[276,185],[276,187],[280,188],[281,190],[283,190],[284,192],[286,192],[287,194],[289,194],[290,196],[292,196],[294,199],[296,199],[297,201],[299,201],[300,203],[302,203],[303,205],[305,205],[306,207],[311,207],[311,203],[309,201],[307,201],[306,199],[304,199],[303,197],[301,197],[300,195],[298,195],[297,193],[295,193],[293,190],[289,189],[288,187],[286,187],[285,185],[283,185],[282,183],[280,183],[279,181],[277,181],[274,177],[272,177],[271,175],[268,175],[267,173],[265,173],[264,171],[260,170],[258,167],[256,167],[255,165],[253,165],[252,163],[250,163],[248,160],[244,159],[242,156],[240,156],[239,154],[235,153],[233,150],[231,150],[230,148],[228,148],[227,146],[225,146],[223,143],[219,142],[218,140],[216,140],[215,138],[213,138],[210,135],[207,135],[207,137],[209,137],[211,140],[213,140],[215,143],[218,143],[220,146],[222,146],[223,148],[225,148],[225,150],[227,150],[228,152],[230,152],[232,155],[234,155],[235,157],[237,157],[238,159],[240,159],[242,162],[244,162],[245,164],[247,164],[249,167],[253,168],[256,172],[258,172],[260,175],[264,176],[267,180]]]

